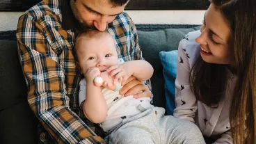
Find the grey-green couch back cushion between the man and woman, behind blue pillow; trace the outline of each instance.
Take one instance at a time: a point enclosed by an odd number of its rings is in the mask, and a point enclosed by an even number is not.
[[[151,79],[154,94],[154,106],[166,106],[163,66],[159,59],[160,51],[171,51],[178,48],[179,41],[186,33],[200,29],[195,26],[188,29],[165,29],[161,31],[138,31],[138,43],[143,51],[143,57],[154,67]]]

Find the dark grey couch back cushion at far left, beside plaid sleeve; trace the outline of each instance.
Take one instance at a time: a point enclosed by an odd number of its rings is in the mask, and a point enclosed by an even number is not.
[[[26,83],[19,64],[17,42],[0,40],[0,111],[26,101]]]

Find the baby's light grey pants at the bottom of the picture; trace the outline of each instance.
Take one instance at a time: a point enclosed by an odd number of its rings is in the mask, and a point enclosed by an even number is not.
[[[164,115],[159,107],[144,109],[131,118],[125,118],[120,125],[109,131],[106,143],[110,144],[199,144],[205,143],[200,129],[193,123]]]

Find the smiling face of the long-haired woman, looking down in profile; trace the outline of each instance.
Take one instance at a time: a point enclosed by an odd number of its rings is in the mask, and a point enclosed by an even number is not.
[[[200,31],[195,41],[200,44],[202,59],[207,63],[230,64],[230,27],[213,3],[205,13]]]

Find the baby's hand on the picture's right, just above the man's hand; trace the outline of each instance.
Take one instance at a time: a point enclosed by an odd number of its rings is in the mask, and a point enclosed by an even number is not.
[[[111,77],[114,81],[118,81],[119,83],[124,82],[123,80],[127,74],[122,65],[113,65],[106,71],[109,72],[109,77]]]

